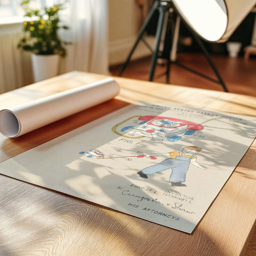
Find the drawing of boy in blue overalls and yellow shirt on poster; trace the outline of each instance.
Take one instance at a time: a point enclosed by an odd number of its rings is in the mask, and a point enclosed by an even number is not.
[[[164,161],[160,162],[159,164],[152,165],[142,169],[141,171],[137,172],[140,177],[148,178],[147,175],[153,175],[157,172],[165,171],[168,169],[172,169],[171,176],[169,181],[171,182],[172,186],[179,186],[184,187],[186,186],[182,182],[185,182],[186,179],[186,172],[190,163],[194,166],[197,166],[203,170],[206,170],[207,167],[199,164],[196,159],[198,152],[202,149],[197,146],[185,146],[182,152],[168,152],[168,153],[160,153],[160,154],[151,154],[146,155],[146,157],[150,156],[170,156],[170,158],[165,159]]]

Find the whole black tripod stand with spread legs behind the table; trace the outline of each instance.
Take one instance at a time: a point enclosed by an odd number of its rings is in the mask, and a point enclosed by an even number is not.
[[[170,12],[169,9],[173,8],[174,11]],[[159,11],[159,18],[158,18],[158,24],[157,24],[157,28],[156,28],[156,34],[155,34],[155,49],[152,50],[149,45],[144,41],[144,39],[142,38],[144,32],[146,31],[146,28],[149,24],[149,22],[151,21],[153,14],[155,11]],[[167,46],[167,54],[166,57],[164,57],[163,55],[161,55],[161,52],[159,50],[159,46],[160,46],[160,42],[161,42],[161,38],[162,38],[162,32],[163,32],[163,27],[164,27],[164,23],[166,23],[166,21],[168,20],[168,18],[170,18],[171,20],[171,27],[172,27],[172,34],[171,34],[171,41],[169,46]],[[149,81],[153,81],[154,78],[154,72],[155,72],[155,66],[156,66],[156,60],[158,58],[161,59],[167,59],[167,67],[166,67],[166,82],[167,84],[169,84],[169,77],[170,77],[170,64],[176,64],[178,66],[180,66],[181,68],[184,68],[188,71],[191,71],[197,75],[200,75],[208,80],[211,80],[213,82],[217,82],[219,84],[222,85],[223,90],[228,92],[228,89],[225,86],[224,81],[222,80],[217,68],[215,67],[212,59],[210,58],[209,53],[207,52],[206,47],[204,46],[203,42],[201,41],[201,38],[199,38],[199,36],[190,28],[188,27],[188,29],[190,30],[190,32],[192,33],[192,36],[196,39],[199,47],[201,48],[202,52],[204,53],[206,59],[208,60],[208,63],[210,64],[210,66],[212,67],[216,77],[218,78],[218,80],[215,80],[213,78],[210,78],[207,75],[204,75],[196,70],[193,70],[191,68],[186,67],[185,65],[178,63],[176,60],[170,59],[170,54],[171,52],[173,53],[173,51],[176,51],[176,45],[177,45],[177,37],[178,37],[178,30],[179,30],[179,23],[176,23],[177,21],[180,22],[181,17],[178,15],[178,13],[176,12],[175,8],[172,6],[172,1],[171,0],[155,0],[153,3],[153,6],[151,7],[151,10],[149,12],[148,17],[146,18],[146,21],[144,22],[139,35],[137,37],[137,40],[135,41],[132,49],[130,50],[130,53],[126,59],[126,62],[123,64],[122,69],[119,73],[119,75],[121,76],[123,71],[126,69],[130,58],[132,57],[132,54],[135,50],[135,48],[137,47],[138,43],[140,40],[142,40],[147,47],[150,48],[150,50],[153,52],[153,56],[152,56],[152,60],[151,60],[151,68],[150,68],[150,73],[149,73]],[[178,25],[178,26],[176,26]],[[168,31],[166,30],[166,33],[164,34],[164,37],[166,37],[166,35],[168,34]]]

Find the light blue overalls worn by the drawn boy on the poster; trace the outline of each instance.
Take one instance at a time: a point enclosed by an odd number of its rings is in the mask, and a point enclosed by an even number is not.
[[[190,165],[190,159],[192,159],[193,157],[194,155],[192,155],[191,157],[182,156],[182,153],[180,152],[179,155],[176,156],[176,158],[167,158],[159,164],[146,167],[141,171],[146,175],[153,175],[156,172],[172,169],[169,181],[185,182],[186,172],[188,170],[188,166]]]

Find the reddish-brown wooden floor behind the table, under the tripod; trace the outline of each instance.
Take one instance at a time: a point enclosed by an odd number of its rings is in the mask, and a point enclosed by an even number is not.
[[[211,55],[220,76],[229,92],[256,96],[256,58],[245,61],[243,57],[229,58],[224,55]],[[217,80],[205,56],[201,53],[178,53],[177,61],[187,67],[197,70]],[[122,65],[112,66],[111,75],[118,76]],[[124,70],[122,77],[148,80],[151,66],[151,57],[132,61]],[[166,65],[156,65],[154,81],[166,83]],[[209,90],[222,91],[222,85],[198,76],[175,64],[170,68],[170,84],[197,87]]]

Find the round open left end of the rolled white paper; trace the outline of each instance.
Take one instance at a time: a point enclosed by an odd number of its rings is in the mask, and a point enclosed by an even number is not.
[[[8,138],[15,138],[20,134],[21,124],[14,112],[10,110],[0,111],[0,132]]]

